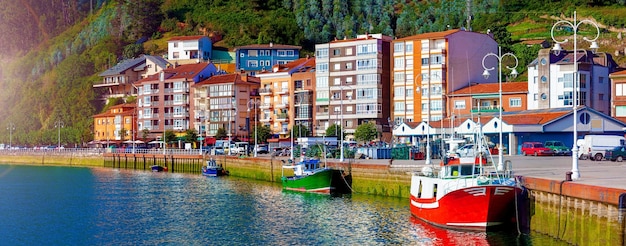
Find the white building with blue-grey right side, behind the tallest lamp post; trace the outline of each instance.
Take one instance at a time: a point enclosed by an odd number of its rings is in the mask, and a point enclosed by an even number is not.
[[[528,109],[572,107],[575,64],[578,64],[578,105],[585,105],[610,115],[611,84],[609,74],[617,67],[612,56],[588,50],[539,51],[528,65]]]

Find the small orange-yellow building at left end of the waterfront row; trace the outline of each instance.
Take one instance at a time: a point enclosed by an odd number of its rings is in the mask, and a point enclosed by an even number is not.
[[[137,134],[136,125],[137,116],[135,113],[134,103],[126,103],[115,105],[107,110],[107,112],[93,116],[94,124],[94,143],[103,146],[122,145],[124,141],[133,140],[141,134]]]

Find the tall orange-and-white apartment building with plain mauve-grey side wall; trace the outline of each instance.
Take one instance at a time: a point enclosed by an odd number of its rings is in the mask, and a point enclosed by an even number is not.
[[[446,95],[485,79],[482,59],[498,52],[491,35],[461,29],[393,40],[392,112],[395,122],[437,121],[450,112]],[[485,65],[497,67],[497,59]],[[494,78],[495,77],[495,78]]]

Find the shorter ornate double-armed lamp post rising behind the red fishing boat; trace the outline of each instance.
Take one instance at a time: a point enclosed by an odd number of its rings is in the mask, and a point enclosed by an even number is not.
[[[517,77],[517,70],[515,70],[515,68],[517,68],[517,65],[519,64],[519,62],[517,60],[517,56],[515,56],[513,53],[502,54],[502,48],[498,47],[498,54],[497,55],[494,54],[494,53],[489,53],[489,54],[486,54],[483,57],[483,68],[485,69],[485,71],[483,72],[483,76],[485,77],[485,79],[489,78],[489,75],[490,75],[489,71],[495,69],[495,67],[487,68],[485,66],[485,59],[487,59],[487,57],[490,57],[490,56],[493,56],[496,59],[498,59],[498,85],[499,85],[499,87],[498,87],[498,94],[499,94],[499,97],[500,97],[499,98],[499,100],[500,100],[499,104],[500,105],[498,107],[500,123],[498,124],[498,132],[499,132],[500,142],[498,144],[498,166],[497,166],[497,169],[498,169],[498,171],[502,171],[502,170],[504,170],[504,163],[502,162],[502,158],[503,158],[502,157],[502,155],[503,155],[503,153],[502,153],[502,150],[503,150],[503,148],[502,148],[502,145],[503,145],[502,144],[502,122],[503,122],[502,121],[502,106],[503,106],[503,104],[502,104],[502,60],[505,57],[507,57],[507,56],[510,56],[513,59],[515,59],[515,66],[513,66],[513,67],[506,66],[507,69],[511,70],[511,77],[513,77],[513,78]]]

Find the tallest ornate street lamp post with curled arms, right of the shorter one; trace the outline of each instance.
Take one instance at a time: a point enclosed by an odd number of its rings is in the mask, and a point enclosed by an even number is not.
[[[578,50],[576,47],[576,42],[577,40],[577,33],[578,33],[578,26],[582,23],[587,23],[590,24],[592,26],[594,26],[596,28],[596,37],[593,39],[588,39],[587,37],[583,37],[583,40],[590,42],[591,46],[589,48],[591,48],[592,51],[596,51],[598,49],[598,43],[596,43],[596,40],[598,39],[598,37],[600,37],[600,28],[598,27],[598,25],[591,21],[591,20],[582,20],[579,22],[576,22],[576,11],[574,11],[574,22],[569,22],[566,20],[560,20],[557,21],[556,23],[554,23],[554,25],[552,26],[552,30],[550,30],[550,36],[552,37],[552,40],[554,40],[555,44],[554,44],[554,48],[552,48],[552,50],[555,52],[555,54],[558,56],[559,53],[561,52],[561,44],[565,43],[568,41],[568,39],[565,39],[563,41],[558,41],[556,40],[556,38],[554,37],[554,29],[559,26],[559,25],[564,25],[564,26],[569,26],[572,28],[572,30],[574,31],[574,85],[572,86],[572,109],[573,109],[573,116],[574,116],[574,129],[573,129],[573,135],[574,135],[574,143],[572,146],[572,179],[579,179],[580,178],[580,172],[578,171],[578,145],[576,144],[576,141],[578,140],[578,130],[577,130],[577,125],[578,125],[578,115],[577,115],[577,108],[578,108],[578,83],[580,81],[579,78],[579,74],[578,74],[578,58],[577,58],[577,54],[578,54]]]

